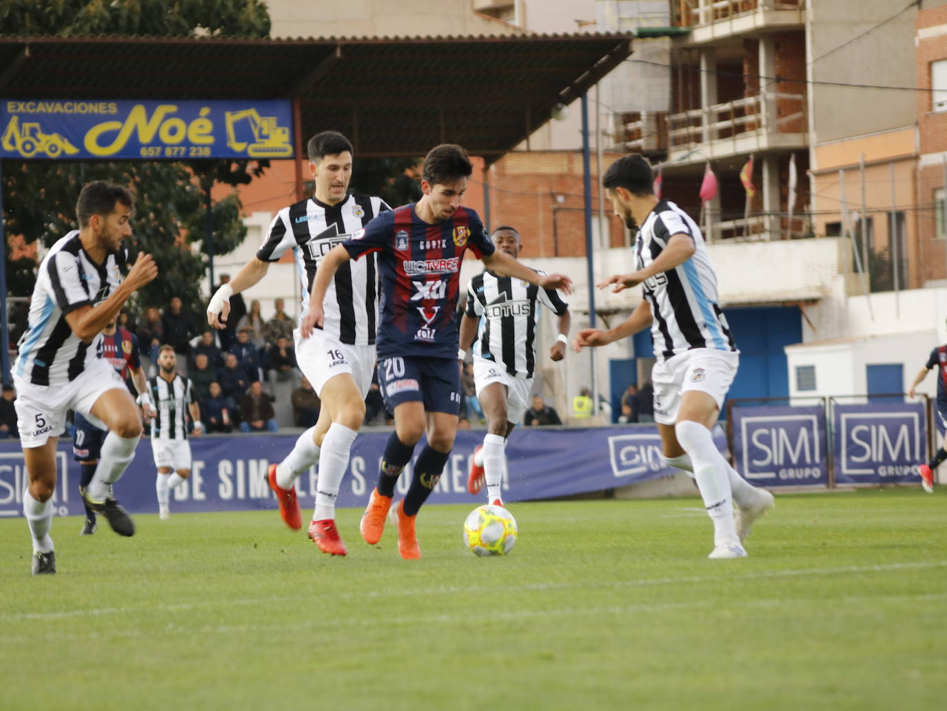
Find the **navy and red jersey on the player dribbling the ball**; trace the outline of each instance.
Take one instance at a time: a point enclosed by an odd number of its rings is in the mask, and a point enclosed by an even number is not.
[[[455,311],[464,251],[470,248],[482,258],[494,250],[474,210],[458,207],[450,220],[428,224],[418,217],[414,204],[406,204],[383,212],[343,245],[353,259],[380,253],[378,359],[456,359]]]

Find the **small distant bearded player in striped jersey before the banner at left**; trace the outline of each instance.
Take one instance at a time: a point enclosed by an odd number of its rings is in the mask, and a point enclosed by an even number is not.
[[[158,475],[154,490],[158,495],[158,517],[169,517],[169,494],[190,475],[188,415],[194,436],[204,434],[201,410],[194,398],[194,386],[175,371],[177,355],[171,346],[158,349],[158,374],[148,381],[155,410],[152,419],[152,456]]]

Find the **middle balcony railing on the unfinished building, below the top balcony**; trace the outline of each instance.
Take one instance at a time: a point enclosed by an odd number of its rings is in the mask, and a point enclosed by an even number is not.
[[[765,105],[776,102],[775,112],[764,111]],[[776,114],[768,120],[767,115]],[[806,131],[806,97],[802,94],[763,92],[754,97],[738,98],[705,109],[691,109],[668,117],[670,148],[692,146],[743,133],[761,130],[773,133],[804,133]]]

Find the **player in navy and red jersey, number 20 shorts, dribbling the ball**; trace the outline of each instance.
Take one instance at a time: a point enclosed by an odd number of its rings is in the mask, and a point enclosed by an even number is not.
[[[432,149],[424,159],[418,203],[378,215],[332,248],[316,273],[309,310],[300,324],[304,338],[322,326],[323,298],[342,264],[379,253],[382,305],[375,346],[378,378],[385,404],[395,416],[395,432],[384,448],[378,484],[360,527],[366,542],[381,540],[395,484],[426,433],[427,445],[414,465],[411,486],[396,508],[398,552],[404,559],[420,558],[415,518],[454,447],[460,406],[455,315],[464,252],[473,250],[498,275],[566,293],[572,285],[568,276],[541,276],[495,250],[474,210],[460,204],[472,172],[467,151],[460,146]]]

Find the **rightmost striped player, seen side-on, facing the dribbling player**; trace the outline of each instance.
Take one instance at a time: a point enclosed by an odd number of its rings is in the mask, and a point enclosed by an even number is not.
[[[638,224],[640,229],[636,271],[611,276],[599,288],[620,292],[643,284],[644,298],[614,329],[581,330],[576,350],[652,327],[654,420],[664,456],[697,482],[714,524],[709,558],[743,558],[742,542],[753,522],[773,507],[773,495],[743,480],[710,434],[737,374],[739,351],[717,304],[717,277],[704,238],[684,210],[657,199],[652,167],[641,155],[619,158],[605,171],[602,185],[616,215],[629,228]]]

